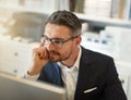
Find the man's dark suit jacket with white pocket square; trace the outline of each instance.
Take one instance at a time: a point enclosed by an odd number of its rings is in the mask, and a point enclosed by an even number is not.
[[[39,80],[62,86],[57,63],[48,63]],[[127,100],[110,57],[82,48],[74,100]]]

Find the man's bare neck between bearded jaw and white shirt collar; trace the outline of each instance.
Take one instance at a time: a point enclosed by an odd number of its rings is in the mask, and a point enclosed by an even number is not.
[[[78,47],[71,54],[71,57],[66,60],[66,61],[62,61],[61,64],[66,65],[67,67],[72,67],[73,64],[75,63],[76,59],[78,59],[78,55],[79,55],[79,52],[80,52],[80,48]]]

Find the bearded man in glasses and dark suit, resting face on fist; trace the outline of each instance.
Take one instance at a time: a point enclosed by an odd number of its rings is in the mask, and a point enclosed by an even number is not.
[[[127,100],[114,60],[80,46],[81,27],[73,13],[53,12],[27,74],[66,87],[68,100]]]

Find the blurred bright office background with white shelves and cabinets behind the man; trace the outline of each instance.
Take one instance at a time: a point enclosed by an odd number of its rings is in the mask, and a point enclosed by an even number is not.
[[[114,58],[131,100],[131,0],[0,0],[0,71],[24,75],[47,17],[68,10],[82,22],[82,42]]]

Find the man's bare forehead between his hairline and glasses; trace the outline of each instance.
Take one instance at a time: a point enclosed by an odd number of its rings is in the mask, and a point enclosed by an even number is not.
[[[72,34],[72,30],[64,26],[64,25],[57,25],[57,24],[50,24],[48,23],[45,26],[45,35],[47,35],[50,38],[68,38]]]

